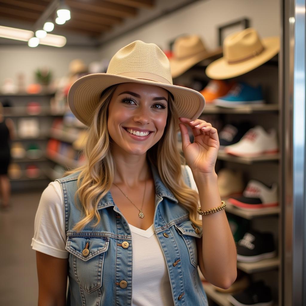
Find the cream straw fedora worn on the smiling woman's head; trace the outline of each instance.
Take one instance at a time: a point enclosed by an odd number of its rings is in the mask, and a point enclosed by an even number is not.
[[[170,91],[179,117],[194,120],[204,109],[205,99],[198,91],[173,85],[169,60],[162,50],[154,43],[141,40],[121,48],[110,60],[106,73],[93,73],[76,80],[69,89],[69,107],[76,118],[89,126],[103,90],[128,82]]]

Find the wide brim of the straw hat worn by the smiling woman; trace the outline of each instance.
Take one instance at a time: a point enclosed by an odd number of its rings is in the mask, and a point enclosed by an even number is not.
[[[174,96],[179,117],[194,120],[203,112],[205,99],[198,91],[182,86],[108,73],[93,73],[76,80],[68,93],[70,110],[77,119],[89,126],[95,108],[101,99],[101,93],[112,85],[129,82],[159,86],[170,91]],[[177,128],[179,130],[179,127]]]

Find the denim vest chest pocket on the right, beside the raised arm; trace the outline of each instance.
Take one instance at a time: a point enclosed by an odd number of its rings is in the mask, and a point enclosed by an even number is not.
[[[188,248],[191,264],[197,268],[198,254],[196,247],[196,238],[202,237],[202,229],[194,225],[189,219],[175,224],[178,233],[183,237]]]

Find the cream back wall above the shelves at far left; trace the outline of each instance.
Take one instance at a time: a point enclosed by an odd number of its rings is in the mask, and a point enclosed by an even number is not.
[[[35,82],[35,70],[46,66],[52,70],[54,79],[61,78],[67,75],[69,62],[75,58],[81,58],[88,65],[100,59],[100,52],[92,48],[2,46],[0,87],[6,78],[12,78],[17,83],[19,73],[24,73],[25,85]]]

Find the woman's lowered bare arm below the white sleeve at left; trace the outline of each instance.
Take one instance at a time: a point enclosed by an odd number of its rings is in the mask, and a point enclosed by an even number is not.
[[[38,306],[65,306],[68,258],[62,259],[36,251]]]

